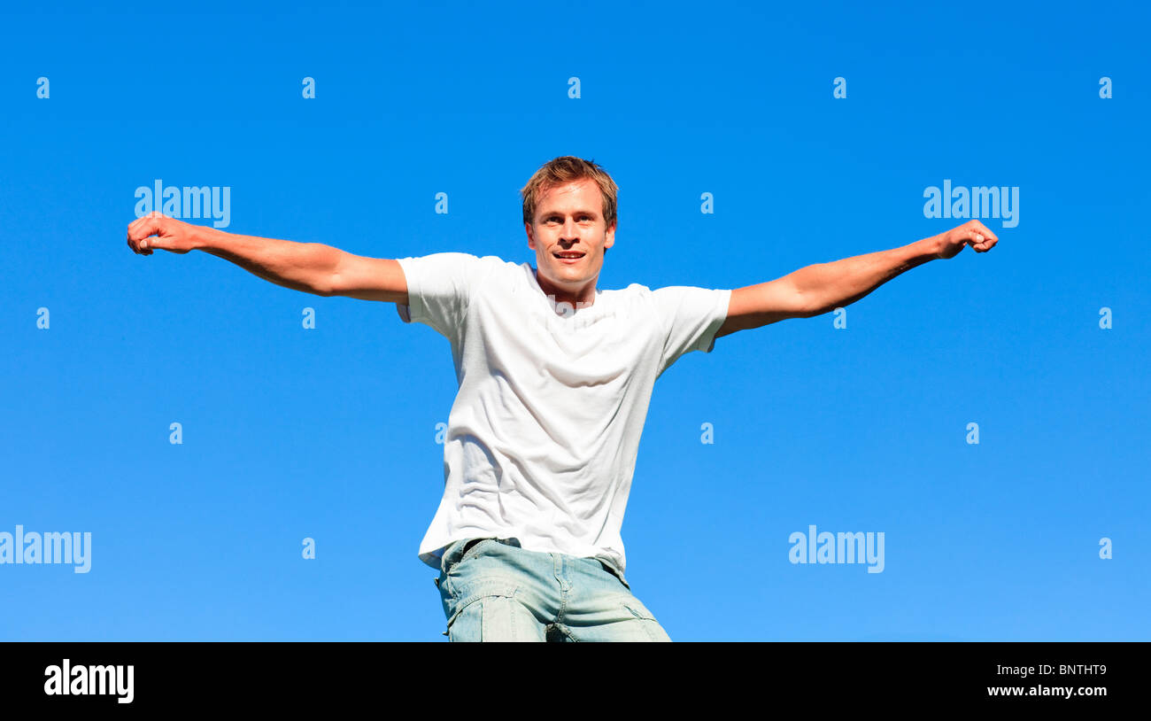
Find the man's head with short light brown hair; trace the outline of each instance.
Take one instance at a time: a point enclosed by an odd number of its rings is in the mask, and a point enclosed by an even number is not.
[[[603,168],[572,155],[547,162],[520,190],[527,246],[544,291],[561,301],[594,299],[603,256],[616,242],[618,190]]]

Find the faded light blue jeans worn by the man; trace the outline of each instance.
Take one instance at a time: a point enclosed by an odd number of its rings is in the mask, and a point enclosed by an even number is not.
[[[526,551],[512,539],[449,545],[436,586],[452,642],[671,640],[605,563]]]

